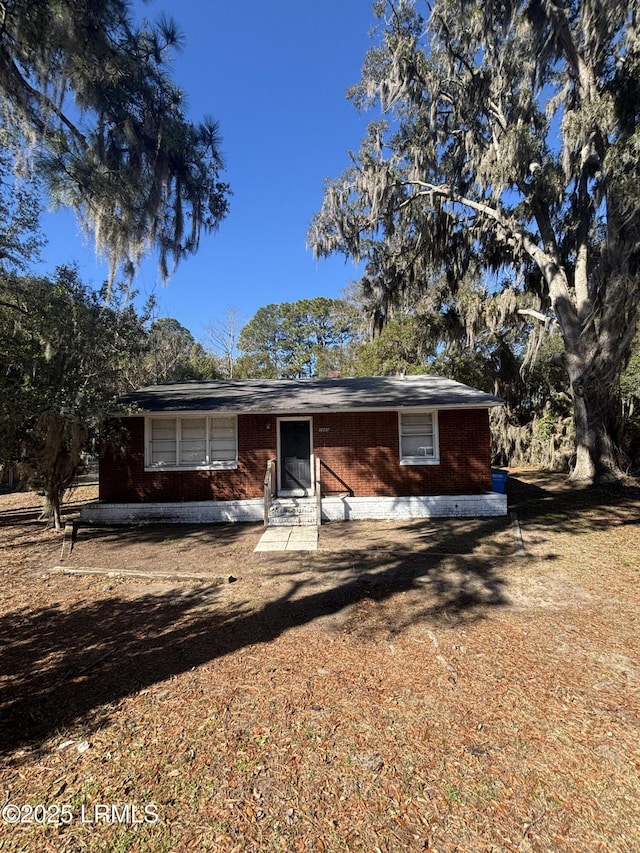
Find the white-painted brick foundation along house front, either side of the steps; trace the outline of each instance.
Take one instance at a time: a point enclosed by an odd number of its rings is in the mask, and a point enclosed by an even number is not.
[[[367,519],[479,518],[507,514],[507,496],[423,495],[398,498],[328,497],[322,499],[323,521]],[[263,521],[262,499],[185,503],[91,503],[82,508],[85,524],[216,524]]]

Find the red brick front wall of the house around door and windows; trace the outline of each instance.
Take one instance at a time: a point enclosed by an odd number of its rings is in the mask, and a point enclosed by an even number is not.
[[[144,418],[124,418],[127,452],[107,446],[100,462],[100,499],[113,502],[259,498],[275,459],[272,415],[238,416],[238,468],[230,471],[145,471]],[[486,410],[438,413],[439,465],[400,465],[396,412],[313,416],[314,453],[323,462],[323,492],[371,495],[481,494],[491,490]]]

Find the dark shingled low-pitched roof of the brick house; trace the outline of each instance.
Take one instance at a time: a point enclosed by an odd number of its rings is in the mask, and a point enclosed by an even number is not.
[[[503,401],[443,376],[348,379],[242,379],[176,382],[120,398],[141,412],[333,412],[409,408],[488,408]]]

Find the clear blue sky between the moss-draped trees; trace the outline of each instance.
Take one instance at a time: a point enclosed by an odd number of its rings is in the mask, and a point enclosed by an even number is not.
[[[185,46],[173,77],[191,119],[220,122],[233,196],[219,231],[202,238],[167,286],[146,263],[134,287],[155,293],[160,316],[196,338],[229,306],[250,319],[271,302],[339,296],[357,270],[341,257],[316,262],[305,238],[324,179],[346,168],[371,118],[345,93],[371,44],[372,0],[154,0],[135,8],[178,23]],[[42,224],[47,269],[76,261],[83,281],[99,286],[106,267],[73,214],[47,214]]]

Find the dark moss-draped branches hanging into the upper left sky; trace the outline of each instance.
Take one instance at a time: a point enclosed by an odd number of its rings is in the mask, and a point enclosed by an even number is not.
[[[130,5],[0,3],[0,119],[25,168],[93,234],[112,280],[152,249],[169,275],[220,223],[229,192],[216,122],[187,120],[167,73],[175,24],[138,26]]]

